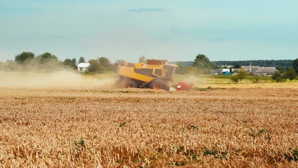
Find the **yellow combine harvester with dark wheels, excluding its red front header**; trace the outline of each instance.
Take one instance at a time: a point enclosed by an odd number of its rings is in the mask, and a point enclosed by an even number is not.
[[[116,63],[115,77],[126,88],[151,88],[170,90],[177,65],[167,64],[167,60],[147,59],[147,63]]]

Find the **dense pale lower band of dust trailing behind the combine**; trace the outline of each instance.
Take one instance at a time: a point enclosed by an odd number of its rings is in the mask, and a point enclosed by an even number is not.
[[[69,70],[51,73],[0,71],[0,89],[109,89],[115,79],[98,79],[93,75],[81,75]]]

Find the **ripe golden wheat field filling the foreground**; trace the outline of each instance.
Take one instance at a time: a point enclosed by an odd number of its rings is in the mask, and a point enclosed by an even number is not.
[[[2,167],[297,167],[298,90],[0,90]]]

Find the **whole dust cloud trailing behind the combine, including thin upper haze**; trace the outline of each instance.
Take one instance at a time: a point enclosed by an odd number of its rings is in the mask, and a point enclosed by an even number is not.
[[[113,76],[105,79],[98,76],[79,74],[58,61],[41,64],[31,60],[22,65],[13,62],[0,69],[0,89],[96,90],[113,86]]]

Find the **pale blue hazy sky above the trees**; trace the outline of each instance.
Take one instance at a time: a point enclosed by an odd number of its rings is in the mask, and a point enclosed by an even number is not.
[[[298,58],[298,1],[0,0],[0,61],[144,55],[190,61]]]

